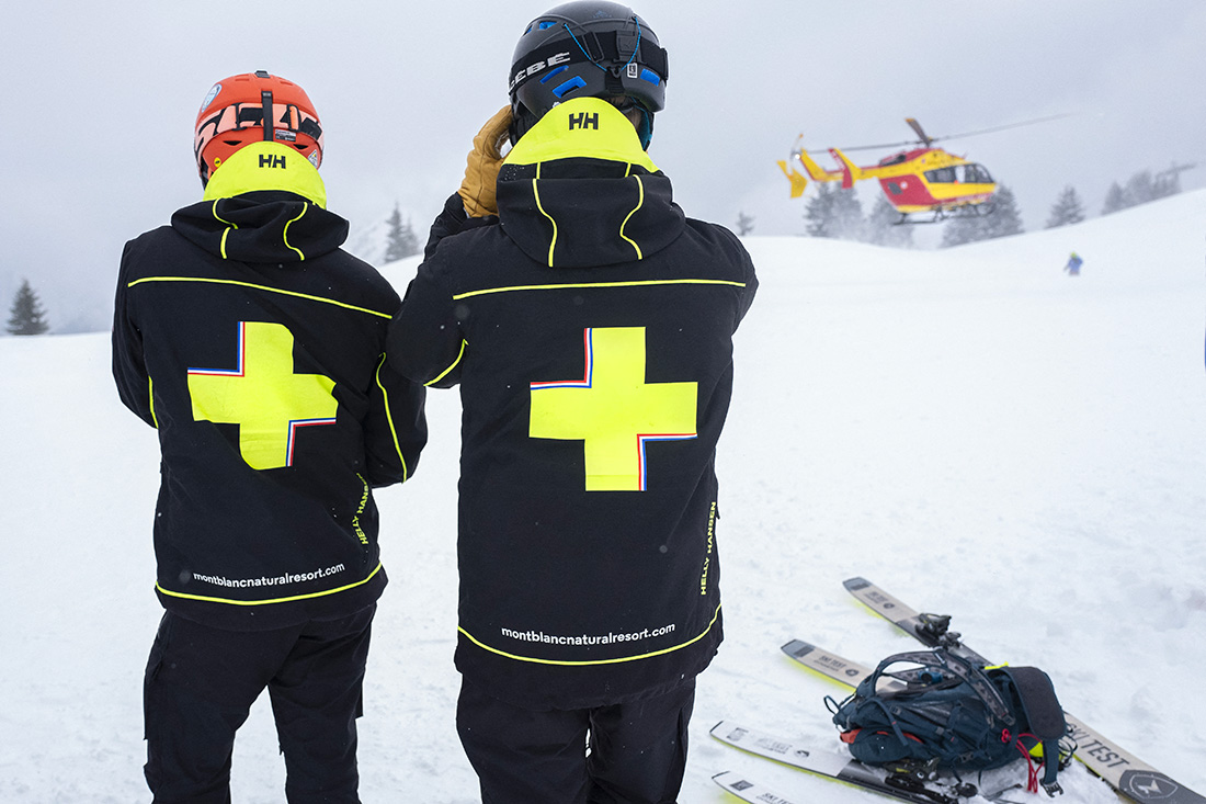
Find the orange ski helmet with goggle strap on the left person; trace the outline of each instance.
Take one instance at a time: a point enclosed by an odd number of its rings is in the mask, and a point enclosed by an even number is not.
[[[222,78],[205,97],[193,132],[201,185],[232,153],[258,141],[289,145],[315,168],[322,164],[322,124],[305,89],[264,70]]]

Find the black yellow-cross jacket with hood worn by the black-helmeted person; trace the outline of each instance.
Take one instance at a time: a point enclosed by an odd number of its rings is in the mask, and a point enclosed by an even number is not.
[[[721,640],[714,460],[753,263],[598,99],[525,134],[498,208],[440,239],[390,331],[402,373],[461,385],[457,668],[534,709],[665,692]]]

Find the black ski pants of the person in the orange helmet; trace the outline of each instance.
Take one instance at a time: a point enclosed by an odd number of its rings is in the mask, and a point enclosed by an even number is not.
[[[375,610],[247,633],[166,612],[144,681],[156,804],[230,802],[234,735],[265,687],[291,804],[359,802],[356,718]]]

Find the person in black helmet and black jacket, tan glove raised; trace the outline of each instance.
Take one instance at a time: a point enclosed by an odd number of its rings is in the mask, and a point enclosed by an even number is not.
[[[532,21],[388,333],[399,373],[461,386],[457,728],[491,804],[673,802],[721,641],[715,448],[757,280],[646,151],[667,78],[626,6]]]

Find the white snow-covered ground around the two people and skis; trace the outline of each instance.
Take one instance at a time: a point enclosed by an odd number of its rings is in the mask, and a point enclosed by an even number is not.
[[[944,251],[749,239],[762,287],[719,459],[727,640],[684,804],[724,802],[725,769],[795,800],[879,800],[708,736],[728,718],[838,745],[821,699],[841,689],[779,646],[913,647],[845,594],[854,575],[1048,670],[1066,709],[1206,793],[1204,221],[1196,192]],[[414,264],[385,273],[402,289]],[[117,401],[107,334],[0,339],[0,800],[148,800],[154,435]],[[475,799],[452,722],[455,394],[433,394],[431,427],[418,476],[380,495],[367,803]],[[260,701],[236,802],[283,800],[274,746]],[[1114,800],[1079,765],[1065,787]]]

